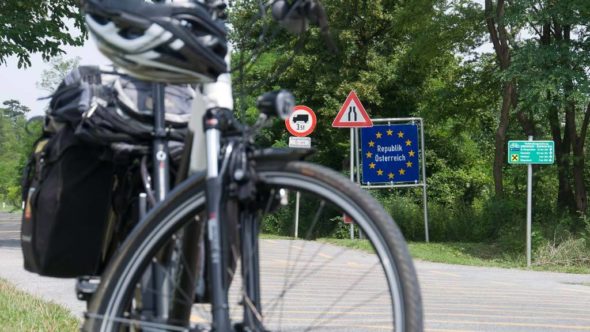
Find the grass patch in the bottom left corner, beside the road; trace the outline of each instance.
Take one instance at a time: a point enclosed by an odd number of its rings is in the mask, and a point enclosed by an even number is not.
[[[61,306],[0,279],[0,331],[76,331],[80,322]]]

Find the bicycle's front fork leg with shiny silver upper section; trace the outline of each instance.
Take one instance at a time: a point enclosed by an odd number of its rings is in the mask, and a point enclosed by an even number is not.
[[[223,178],[219,174],[221,149],[221,116],[215,109],[208,110],[204,118],[207,142],[207,234],[209,241],[209,283],[213,328],[216,332],[232,331],[229,318],[227,291],[224,285],[225,271],[220,233],[220,205]]]

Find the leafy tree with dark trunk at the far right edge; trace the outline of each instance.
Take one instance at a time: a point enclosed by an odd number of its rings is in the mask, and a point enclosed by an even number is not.
[[[558,206],[572,214],[586,213],[590,3],[522,0],[514,6],[510,19],[525,22],[534,34],[519,44],[509,73],[520,86],[519,104],[536,121],[549,124],[556,146]]]

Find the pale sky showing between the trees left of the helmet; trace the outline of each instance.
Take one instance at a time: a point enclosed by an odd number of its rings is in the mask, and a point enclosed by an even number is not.
[[[83,65],[109,64],[108,59],[100,54],[91,39],[87,40],[82,47],[67,46],[63,49],[65,58],[80,57],[80,64]],[[49,69],[49,64],[44,62],[39,54],[31,56],[31,67],[19,69],[17,63],[17,58],[13,56],[7,59],[6,64],[0,65],[0,103],[16,99],[31,109],[30,116],[44,114],[48,100],[37,99],[49,93],[37,89],[36,82],[41,81],[43,70]]]

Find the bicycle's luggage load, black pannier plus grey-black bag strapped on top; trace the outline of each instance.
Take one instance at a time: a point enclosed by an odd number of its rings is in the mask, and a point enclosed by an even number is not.
[[[193,96],[187,85],[166,87],[171,161],[182,153]],[[96,66],[73,69],[59,85],[23,176],[21,245],[27,270],[64,278],[102,272],[116,248],[113,227],[132,226],[113,225],[128,221],[127,212],[113,210],[113,198],[127,190],[118,177],[121,169],[149,153],[151,104],[148,83]]]

